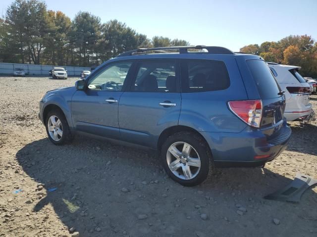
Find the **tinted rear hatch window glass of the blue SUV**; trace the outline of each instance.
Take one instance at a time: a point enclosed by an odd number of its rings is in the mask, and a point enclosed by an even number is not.
[[[263,60],[247,60],[249,70],[255,80],[261,99],[270,99],[278,97],[280,88]]]

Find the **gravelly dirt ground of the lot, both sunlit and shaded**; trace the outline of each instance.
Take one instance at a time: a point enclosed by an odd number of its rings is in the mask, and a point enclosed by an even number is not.
[[[75,80],[0,77],[0,237],[317,236],[317,187],[300,203],[263,198],[297,172],[317,178],[316,121],[291,122],[288,149],[265,168],[218,169],[185,188],[154,153],[84,137],[54,146],[38,103]]]

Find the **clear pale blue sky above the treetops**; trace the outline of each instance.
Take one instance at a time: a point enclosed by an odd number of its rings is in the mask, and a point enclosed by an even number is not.
[[[5,15],[12,0],[0,0]],[[191,45],[223,46],[233,51],[248,44],[289,35],[317,40],[317,0],[46,0],[48,9],[73,19],[79,11],[117,19],[152,38],[182,39]]]

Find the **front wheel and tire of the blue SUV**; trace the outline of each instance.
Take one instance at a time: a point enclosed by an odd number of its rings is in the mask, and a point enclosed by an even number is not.
[[[56,125],[53,124],[52,119],[55,120]],[[58,120],[60,121],[60,124]],[[50,131],[49,131],[49,126],[50,126]],[[54,127],[54,129],[52,128],[52,126]],[[68,126],[68,122],[61,111],[59,110],[50,111],[48,115],[46,116],[45,127],[46,127],[46,132],[48,134],[48,137],[54,145],[63,145],[72,141],[72,135]]]

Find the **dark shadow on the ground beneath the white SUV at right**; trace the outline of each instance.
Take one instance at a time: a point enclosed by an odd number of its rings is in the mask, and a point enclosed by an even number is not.
[[[290,125],[292,137],[287,150],[316,156],[317,126],[311,123],[291,123]]]

